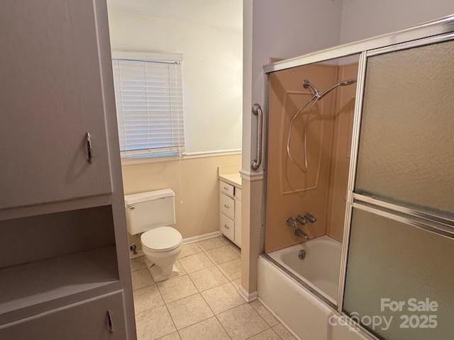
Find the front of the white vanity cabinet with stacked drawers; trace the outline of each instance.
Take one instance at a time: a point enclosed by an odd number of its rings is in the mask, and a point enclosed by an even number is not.
[[[241,247],[241,189],[219,181],[219,229]]]

